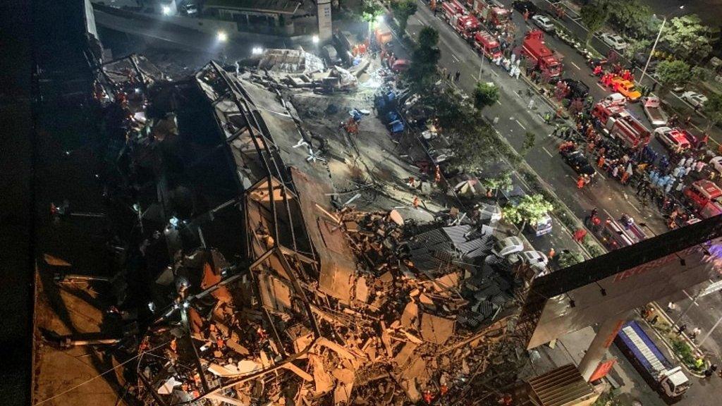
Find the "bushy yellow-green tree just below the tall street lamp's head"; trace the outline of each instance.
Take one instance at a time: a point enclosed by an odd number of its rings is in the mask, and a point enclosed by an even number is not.
[[[697,14],[674,17],[664,27],[662,40],[685,61],[701,61],[712,51],[707,36],[708,27],[702,25]]]

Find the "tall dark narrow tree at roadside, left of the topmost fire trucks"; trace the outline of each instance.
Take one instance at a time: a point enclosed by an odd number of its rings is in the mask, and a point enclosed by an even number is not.
[[[409,82],[409,88],[413,92],[424,94],[433,87],[437,64],[441,58],[438,43],[438,31],[432,27],[423,27],[419,33],[417,46],[412,51],[409,69],[404,73],[404,78]]]

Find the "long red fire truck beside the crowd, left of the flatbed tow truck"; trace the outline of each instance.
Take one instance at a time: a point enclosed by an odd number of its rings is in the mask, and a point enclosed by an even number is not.
[[[652,133],[622,105],[596,103],[591,111],[613,138],[621,139],[628,147],[644,147]]]

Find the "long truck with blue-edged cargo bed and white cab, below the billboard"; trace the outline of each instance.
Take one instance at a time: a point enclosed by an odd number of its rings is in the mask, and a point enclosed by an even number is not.
[[[622,325],[614,344],[641,376],[669,400],[677,400],[690,388],[681,366],[672,366],[637,321]]]

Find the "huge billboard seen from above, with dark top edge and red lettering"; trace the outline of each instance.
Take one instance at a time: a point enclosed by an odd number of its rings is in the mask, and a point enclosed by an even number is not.
[[[520,324],[534,348],[716,277],[722,216],[560,269],[531,284]]]

